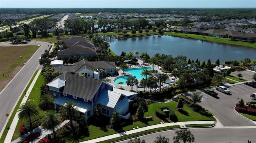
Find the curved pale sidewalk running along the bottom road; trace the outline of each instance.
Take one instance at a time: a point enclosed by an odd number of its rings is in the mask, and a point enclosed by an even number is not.
[[[157,125],[150,125],[150,126],[142,127],[142,128],[138,127],[136,129],[133,129],[133,130],[130,130],[130,131],[124,131],[122,133],[116,133],[116,134],[113,134],[113,135],[108,135],[108,136],[100,137],[100,138],[97,138],[97,139],[82,141],[80,143],[97,143],[97,142],[100,142],[100,141],[106,141],[108,139],[113,139],[113,138],[116,138],[116,137],[122,137],[122,136],[125,136],[125,135],[130,135],[130,134],[133,134],[133,133],[138,133],[138,132],[146,131],[146,130],[149,130],[149,129],[156,129],[156,128],[159,128],[159,127],[179,125],[180,128],[182,129],[182,128],[186,128],[186,125],[190,125],[190,124],[216,124],[216,123],[217,123],[217,121],[181,121],[181,122],[176,122],[176,123],[159,123]]]

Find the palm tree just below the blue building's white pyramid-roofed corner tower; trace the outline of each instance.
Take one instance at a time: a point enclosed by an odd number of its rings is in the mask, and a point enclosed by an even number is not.
[[[54,98],[52,96],[42,95],[40,96],[38,107],[44,111],[54,109],[55,104],[53,101],[54,101]]]

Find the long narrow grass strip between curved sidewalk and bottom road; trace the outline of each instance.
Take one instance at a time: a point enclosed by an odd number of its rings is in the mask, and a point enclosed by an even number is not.
[[[153,132],[157,132],[157,131],[168,130],[168,129],[177,129],[177,128],[180,128],[180,126],[179,125],[174,125],[174,126],[168,126],[168,127],[160,127],[160,128],[156,128],[156,129],[149,129],[149,130],[146,130],[146,131],[141,131],[141,132],[133,133],[133,134],[130,134],[130,135],[124,135],[122,137],[117,137],[117,138],[114,138],[114,139],[108,139],[106,141],[100,141],[98,143],[110,143],[110,142],[119,141],[119,140],[122,140],[122,139],[130,139],[130,138],[136,137],[138,135],[144,135],[144,134],[147,134],[147,133],[153,133]]]

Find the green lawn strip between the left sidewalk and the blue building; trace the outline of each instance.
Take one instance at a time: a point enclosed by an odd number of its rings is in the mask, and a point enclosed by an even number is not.
[[[42,76],[42,74],[40,74],[38,76],[38,79],[36,80],[36,83],[35,83],[32,91],[30,92],[30,95],[27,96],[28,99],[31,99],[29,102],[33,102],[34,104],[36,104],[36,106],[38,106],[38,104],[39,104],[39,99],[40,99],[40,94],[41,94],[40,86],[42,86],[42,84],[44,84],[44,76]],[[27,102],[28,102],[28,100],[27,100]],[[18,104],[18,105],[20,105],[20,104]],[[16,112],[14,112],[14,114],[15,113]],[[42,116],[42,115],[44,115],[44,111],[39,110],[39,116]],[[12,137],[12,141],[21,136],[19,127],[20,127],[20,124],[24,123],[24,122],[26,122],[26,120],[19,119],[17,126],[15,128],[15,131],[14,131],[14,135]]]

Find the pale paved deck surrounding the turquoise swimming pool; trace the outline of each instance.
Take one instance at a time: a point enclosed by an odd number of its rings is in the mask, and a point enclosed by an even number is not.
[[[142,62],[141,59],[138,59],[138,63],[139,63],[139,65],[142,65],[143,62]],[[146,64],[148,64],[148,63],[146,63]],[[143,68],[143,67],[152,67],[152,68],[153,68],[152,65],[149,65],[149,66],[139,66],[139,67],[134,66],[134,67],[129,67],[129,69]],[[164,72],[162,72],[162,70],[158,69],[158,67],[156,67],[156,65],[155,65],[155,67],[154,67],[154,70],[155,70],[155,71],[158,71],[158,73],[164,73]],[[120,85],[114,83],[114,79],[115,79],[115,78],[118,78],[118,77],[120,77],[120,76],[127,76],[127,75],[130,75],[130,73],[129,73],[129,72],[124,72],[124,73],[123,73],[123,71],[122,71],[121,69],[118,69],[118,74],[119,74],[119,76],[116,75],[116,76],[113,76],[113,77],[105,77],[105,78],[102,78],[102,79],[111,79],[110,83],[115,86],[114,88],[120,88]],[[171,80],[171,77],[170,77],[169,79]],[[138,81],[140,82],[140,80],[138,80]],[[171,85],[172,85],[172,84],[168,84],[168,85],[164,84],[164,87],[166,87],[166,86],[171,86]],[[144,88],[137,88],[135,85],[133,86],[133,88],[132,88],[131,86],[122,86],[122,88],[124,88],[124,90],[127,90],[127,91],[130,91],[131,89],[132,89],[132,90],[136,90],[136,91],[138,91],[138,92],[139,92],[139,91],[144,91]],[[149,88],[146,88],[146,91],[149,91]]]

